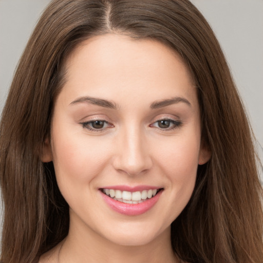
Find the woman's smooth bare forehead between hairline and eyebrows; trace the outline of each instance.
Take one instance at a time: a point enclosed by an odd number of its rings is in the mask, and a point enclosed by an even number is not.
[[[182,96],[196,97],[189,69],[171,48],[150,39],[125,35],[94,36],[79,44],[66,60],[66,84],[72,97],[86,95],[105,99],[120,93],[130,99]],[[109,92],[110,91],[110,92]],[[111,98],[106,98],[110,96]]]

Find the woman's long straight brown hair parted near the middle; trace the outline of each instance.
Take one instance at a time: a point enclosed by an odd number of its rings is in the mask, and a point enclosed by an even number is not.
[[[52,162],[40,156],[64,60],[83,40],[105,33],[173,48],[198,89],[202,142],[212,157],[198,167],[192,198],[172,223],[174,252],[189,262],[261,262],[262,187],[252,132],[216,37],[186,0],[54,0],[46,8],[18,64],[0,126],[1,261],[34,262],[68,233],[68,205]]]

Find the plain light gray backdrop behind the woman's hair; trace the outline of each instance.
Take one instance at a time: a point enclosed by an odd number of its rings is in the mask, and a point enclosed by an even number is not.
[[[0,112],[16,64],[37,19],[49,2],[49,0],[0,0]],[[263,1],[192,0],[192,2],[209,21],[226,54],[248,110],[262,161]]]

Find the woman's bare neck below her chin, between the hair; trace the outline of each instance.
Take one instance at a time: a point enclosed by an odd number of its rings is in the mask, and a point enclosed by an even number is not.
[[[112,242],[88,226],[74,222],[70,223],[69,234],[60,249],[60,263],[86,263],[87,261],[89,263],[178,262],[171,246],[170,228],[167,228],[148,243],[140,246],[129,246],[122,245],[121,242]]]

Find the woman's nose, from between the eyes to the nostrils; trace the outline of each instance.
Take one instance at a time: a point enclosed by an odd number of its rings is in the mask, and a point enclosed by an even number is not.
[[[151,151],[145,134],[138,126],[120,132],[115,145],[117,153],[113,161],[115,170],[136,176],[151,169],[153,165]]]

